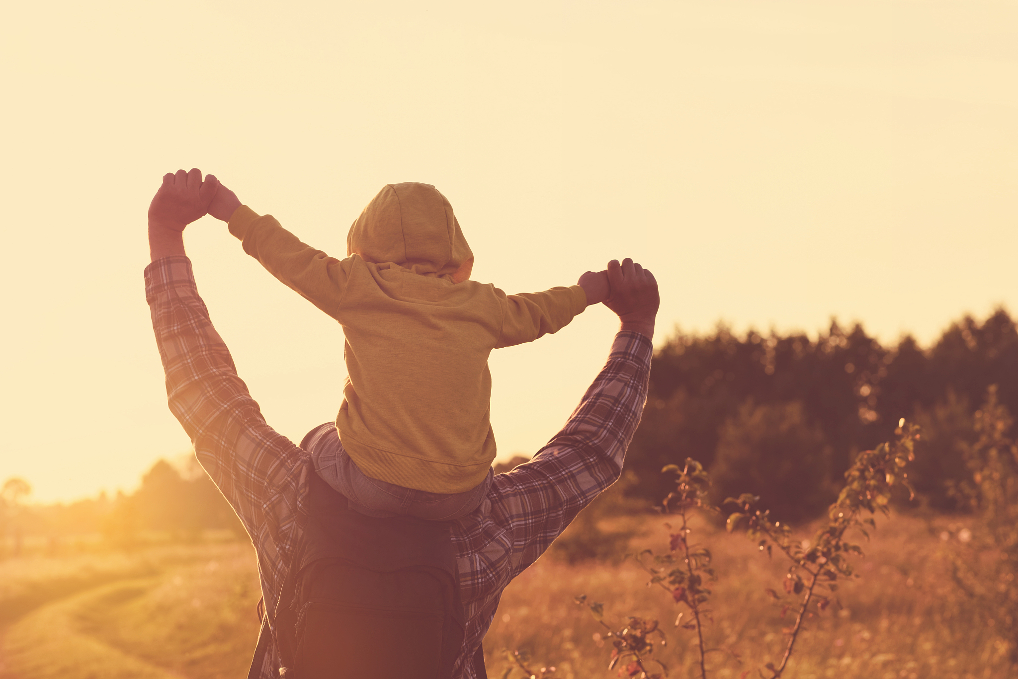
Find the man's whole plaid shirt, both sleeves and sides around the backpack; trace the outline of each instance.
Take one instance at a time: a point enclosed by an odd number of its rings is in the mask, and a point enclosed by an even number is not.
[[[266,423],[212,327],[190,261],[157,260],[145,283],[170,410],[251,536],[270,620],[307,513],[310,456]],[[474,679],[470,660],[506,585],[619,477],[646,400],[652,349],[639,333],[618,333],[562,431],[532,460],[495,476],[482,506],[452,522],[466,620],[455,677]],[[262,631],[265,653],[251,676],[271,679],[279,656],[267,627]]]

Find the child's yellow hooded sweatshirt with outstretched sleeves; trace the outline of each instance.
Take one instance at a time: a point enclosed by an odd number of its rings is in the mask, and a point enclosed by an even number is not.
[[[336,427],[366,475],[431,493],[475,487],[495,459],[492,349],[557,332],[578,285],[506,295],[468,280],[473,254],[430,184],[389,184],[350,227],[345,260],[246,206],[230,233],[276,278],[339,321],[349,377]]]

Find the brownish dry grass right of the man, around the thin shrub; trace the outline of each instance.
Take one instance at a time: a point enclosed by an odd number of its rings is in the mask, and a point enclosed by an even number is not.
[[[648,520],[652,534],[634,547],[667,545],[664,519]],[[809,620],[785,677],[839,678],[965,678],[1012,677],[1006,644],[978,622],[975,612],[959,599],[939,558],[942,544],[923,521],[894,517],[880,522],[867,557],[859,561],[860,579],[838,592],[842,608],[832,607]],[[784,652],[782,628],[791,623],[780,616],[783,602],[766,588],[780,586],[787,562],[769,560],[741,535],[729,535],[700,524],[694,529],[715,556],[719,579],[711,608],[714,622],[704,627],[710,647],[711,676],[750,677]],[[669,645],[655,652],[673,677],[694,672],[695,633],[675,628],[681,610],[667,592],[645,586],[648,577],[633,563],[618,566],[565,566],[542,560],[518,577],[502,599],[485,639],[489,671],[501,677],[510,667],[504,649],[519,648],[533,658],[531,666],[554,665],[559,677],[612,677],[607,670],[611,646],[592,638],[604,631],[589,612],[572,603],[587,595],[605,603],[606,620],[622,622],[627,615],[660,620]],[[787,599],[787,598],[786,598]],[[791,603],[791,600],[788,600]],[[738,656],[738,660],[736,659]],[[522,676],[514,673],[511,676]]]

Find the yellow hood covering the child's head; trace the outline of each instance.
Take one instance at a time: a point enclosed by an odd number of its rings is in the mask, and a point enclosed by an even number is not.
[[[473,252],[452,206],[431,184],[386,184],[346,237],[346,253],[374,264],[392,263],[415,274],[458,283],[470,277]]]

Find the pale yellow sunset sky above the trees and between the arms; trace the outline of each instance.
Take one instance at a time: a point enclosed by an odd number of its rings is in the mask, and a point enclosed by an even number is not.
[[[0,483],[35,502],[188,449],[142,278],[179,168],[340,257],[382,185],[435,184],[507,292],[642,263],[658,343],[1018,312],[1015,2],[22,2],[0,64]],[[269,423],[332,419],[339,327],[221,222],[186,245]],[[501,456],[557,431],[614,329],[590,307],[493,354]]]

